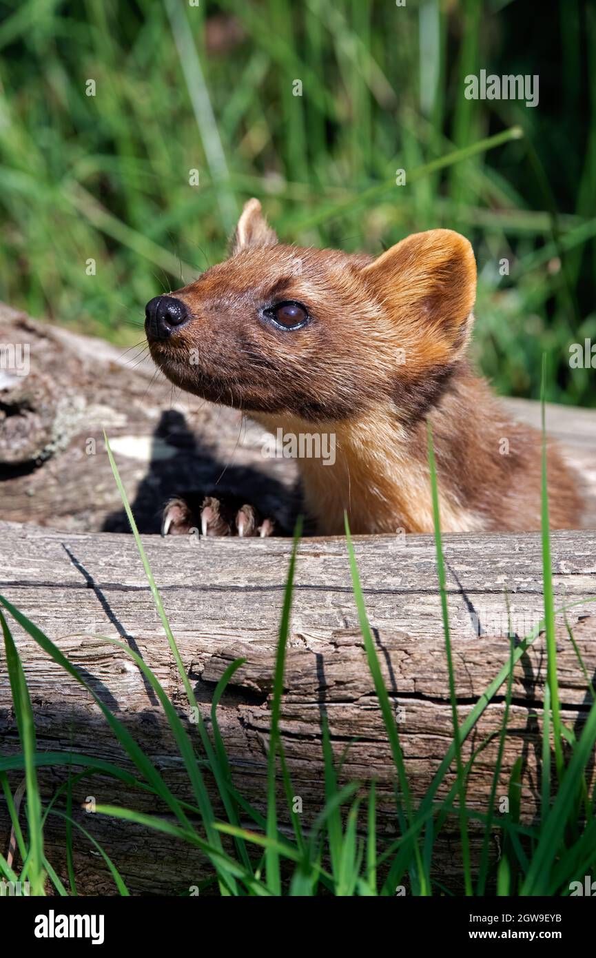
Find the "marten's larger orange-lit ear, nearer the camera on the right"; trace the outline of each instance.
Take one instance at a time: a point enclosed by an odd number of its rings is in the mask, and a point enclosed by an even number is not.
[[[402,239],[361,271],[404,341],[445,362],[467,345],[476,295],[470,241],[453,230],[428,230]]]

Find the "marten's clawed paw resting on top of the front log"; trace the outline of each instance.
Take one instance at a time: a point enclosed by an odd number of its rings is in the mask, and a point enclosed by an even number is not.
[[[162,536],[272,536],[275,523],[241,499],[215,495],[174,498],[162,517]]]

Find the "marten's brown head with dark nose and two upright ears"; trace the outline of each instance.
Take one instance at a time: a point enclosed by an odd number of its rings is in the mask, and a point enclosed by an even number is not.
[[[310,422],[379,405],[417,420],[465,354],[476,267],[468,239],[429,230],[376,260],[278,242],[256,199],[231,256],[147,306],[155,363],[204,399]]]

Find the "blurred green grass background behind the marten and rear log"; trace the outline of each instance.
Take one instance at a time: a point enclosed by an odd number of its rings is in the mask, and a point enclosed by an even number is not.
[[[596,406],[596,371],[568,363],[596,342],[592,0],[0,0],[0,57],[11,305],[135,342],[152,296],[225,255],[251,195],[302,244],[379,253],[447,226],[474,245],[495,388],[538,397],[546,350],[549,398]],[[539,105],[466,100],[480,69],[538,74]]]

